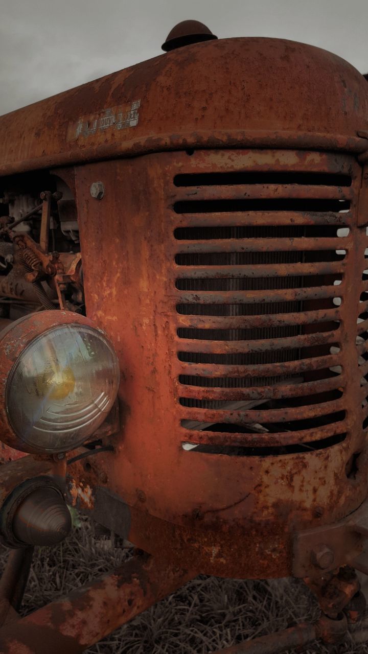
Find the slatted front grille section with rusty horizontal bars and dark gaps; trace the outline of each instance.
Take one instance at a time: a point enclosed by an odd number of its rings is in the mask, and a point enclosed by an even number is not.
[[[228,156],[206,171],[204,153],[200,172],[173,180],[183,449],[278,455],[339,443],[352,176],[343,159],[323,169],[318,154],[296,172]]]

